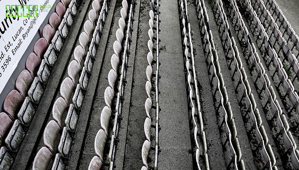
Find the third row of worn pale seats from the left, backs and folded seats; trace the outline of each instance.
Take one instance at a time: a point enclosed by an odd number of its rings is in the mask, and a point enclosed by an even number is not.
[[[131,1],[130,8],[128,8],[128,2],[126,0],[122,1],[122,8],[120,10],[121,18],[118,20],[120,28],[118,28],[116,31],[117,40],[113,43],[114,54],[111,57],[112,69],[108,74],[109,86],[104,92],[106,106],[104,106],[100,117],[102,129],[100,129],[95,136],[94,147],[96,156],[94,156],[90,161],[88,170],[98,170],[102,166],[108,166],[111,170],[115,168],[113,161],[115,158],[118,141],[118,129],[120,125],[122,102],[124,100],[123,96],[125,91],[125,79],[126,70],[128,67],[131,34],[133,30],[132,26],[135,4],[135,1]],[[127,17],[128,13],[129,17]],[[127,27],[125,27],[125,21],[127,21]],[[125,41],[123,41],[124,35],[126,37]],[[124,46],[124,49],[122,48],[122,45]],[[122,58],[121,54],[123,55]],[[118,67],[119,63],[122,63],[120,71]],[[117,81],[119,84],[118,88],[115,86]],[[109,122],[112,116],[114,117],[114,124],[110,134],[111,137],[109,137]],[[109,147],[108,163],[104,163],[104,161],[106,161],[106,159],[104,159],[104,148],[107,139],[111,140],[111,142]]]

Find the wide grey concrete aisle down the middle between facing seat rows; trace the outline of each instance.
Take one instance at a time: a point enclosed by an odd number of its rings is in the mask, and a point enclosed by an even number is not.
[[[181,33],[176,1],[160,2],[159,169],[193,169]]]

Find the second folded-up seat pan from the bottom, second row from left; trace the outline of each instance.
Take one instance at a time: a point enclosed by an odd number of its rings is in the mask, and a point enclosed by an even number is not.
[[[64,157],[68,157],[68,152],[70,151],[71,143],[72,143],[72,137],[69,134],[67,127],[64,127],[58,145],[58,151],[60,155]]]

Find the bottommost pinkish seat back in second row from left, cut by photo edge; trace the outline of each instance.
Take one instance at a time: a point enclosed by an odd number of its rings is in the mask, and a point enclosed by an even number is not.
[[[32,170],[47,170],[52,156],[49,149],[42,147],[35,155]]]

